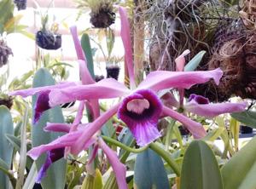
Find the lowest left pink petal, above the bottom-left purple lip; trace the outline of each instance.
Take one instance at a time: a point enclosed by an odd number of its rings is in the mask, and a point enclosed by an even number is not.
[[[56,140],[53,140],[49,144],[33,147],[27,155],[29,155],[32,159],[37,159],[42,153],[66,146],[72,146],[73,143],[82,135],[82,130],[78,130],[76,132],[72,132],[67,135],[63,135]]]

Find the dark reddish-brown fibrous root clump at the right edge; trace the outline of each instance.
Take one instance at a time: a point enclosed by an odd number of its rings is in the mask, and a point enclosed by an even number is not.
[[[256,99],[256,35],[253,32],[245,32],[242,37],[224,43],[208,62],[208,70],[218,67],[224,72],[219,85],[211,81],[189,91],[203,94],[212,101],[228,100],[232,94]]]

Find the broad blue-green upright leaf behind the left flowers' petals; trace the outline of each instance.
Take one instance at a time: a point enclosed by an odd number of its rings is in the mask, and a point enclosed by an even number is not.
[[[36,72],[33,79],[32,86],[34,88],[40,86],[48,86],[55,84],[54,79],[51,77],[50,73],[41,68]],[[32,98],[32,106],[35,106],[37,96]],[[34,114],[34,112],[33,112]],[[51,123],[63,123],[64,117],[61,112],[61,107],[56,106],[46,112],[40,118],[39,122],[32,126],[32,146],[40,146],[42,144],[47,144],[52,140],[55,140],[57,137],[61,136],[59,133],[45,132],[44,126],[47,122]],[[37,169],[39,170],[44,163],[46,156],[41,156],[36,161]],[[42,186],[44,189],[49,188],[64,188],[66,180],[66,166],[67,161],[63,158],[56,163],[53,163],[49,170],[47,171],[47,176],[42,180]]]

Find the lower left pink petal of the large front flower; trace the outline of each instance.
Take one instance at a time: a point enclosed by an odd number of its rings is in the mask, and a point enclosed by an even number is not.
[[[79,153],[81,149],[83,149],[84,143],[86,143],[87,140],[90,140],[90,138],[95,135],[99,129],[102,128],[103,124],[108,122],[110,117],[113,117],[113,115],[117,112],[118,108],[119,104],[113,106],[107,112],[104,112],[102,116],[96,118],[93,123],[89,123],[88,126],[83,129],[83,134],[79,136],[79,138],[71,147],[71,152],[74,154]]]

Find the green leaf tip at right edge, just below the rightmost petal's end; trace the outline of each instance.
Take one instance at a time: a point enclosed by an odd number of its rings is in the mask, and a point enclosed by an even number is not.
[[[237,121],[247,125],[248,127],[256,129],[256,112],[255,111],[231,113],[231,117],[234,117]]]

